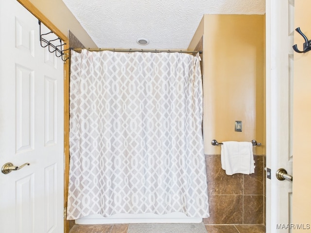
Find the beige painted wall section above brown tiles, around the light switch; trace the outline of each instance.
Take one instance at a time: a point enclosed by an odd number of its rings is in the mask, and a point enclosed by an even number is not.
[[[211,140],[257,140],[265,153],[264,16],[205,15],[189,50],[204,34],[205,153],[220,153]],[[236,120],[242,132],[235,132]]]

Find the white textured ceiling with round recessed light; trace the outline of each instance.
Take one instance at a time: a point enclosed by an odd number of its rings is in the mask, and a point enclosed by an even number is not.
[[[265,13],[265,0],[63,1],[99,48],[115,49],[187,49],[204,14]]]

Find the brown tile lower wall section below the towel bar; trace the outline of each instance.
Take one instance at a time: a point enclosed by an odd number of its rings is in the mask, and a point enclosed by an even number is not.
[[[254,159],[254,174],[229,176],[219,154],[206,155],[210,217],[205,224],[265,224],[265,156]]]

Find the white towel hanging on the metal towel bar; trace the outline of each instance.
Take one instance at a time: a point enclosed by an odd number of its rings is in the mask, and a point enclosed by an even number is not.
[[[227,175],[254,173],[253,144],[251,142],[223,142],[221,163]]]

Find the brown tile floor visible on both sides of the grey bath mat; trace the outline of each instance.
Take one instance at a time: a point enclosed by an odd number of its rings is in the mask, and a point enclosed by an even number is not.
[[[129,224],[74,225],[69,233],[127,233]],[[264,225],[205,225],[208,233],[265,233]]]

